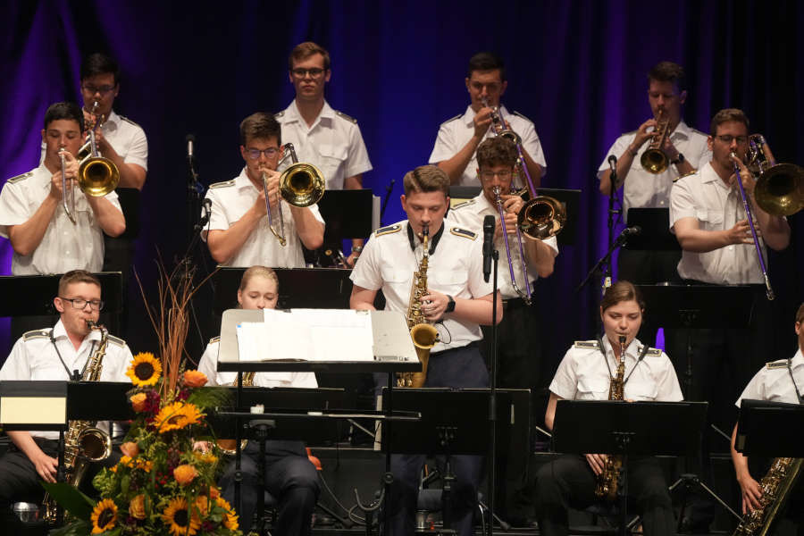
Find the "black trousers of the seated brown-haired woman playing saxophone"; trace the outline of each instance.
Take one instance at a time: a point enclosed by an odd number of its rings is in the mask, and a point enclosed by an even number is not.
[[[568,508],[594,504],[595,484],[595,473],[584,456],[564,455],[542,465],[536,477],[536,515],[542,536],[566,536]],[[656,458],[629,459],[628,491],[641,515],[645,536],[674,534],[673,502]]]

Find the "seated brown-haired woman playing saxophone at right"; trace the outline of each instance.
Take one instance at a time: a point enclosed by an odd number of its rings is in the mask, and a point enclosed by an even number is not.
[[[617,281],[600,302],[605,337],[578,341],[570,348],[550,383],[544,420],[552,430],[557,401],[606,400],[618,377],[619,338],[625,337],[624,398],[628,401],[680,401],[681,388],[673,364],[664,352],[647,348],[635,338],[640,330],[644,303],[638,289]],[[595,500],[596,479],[607,456],[562,455],[543,465],[536,477],[536,515],[543,536],[569,532],[567,509],[582,509]],[[652,456],[630,456],[629,498],[636,502],[645,536],[670,536],[675,532],[673,505],[665,477]]]

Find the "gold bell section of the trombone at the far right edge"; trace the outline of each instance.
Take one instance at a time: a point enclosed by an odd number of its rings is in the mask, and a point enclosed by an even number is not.
[[[776,163],[761,134],[749,137],[748,168],[757,177],[754,198],[767,214],[791,216],[804,208],[804,169]]]

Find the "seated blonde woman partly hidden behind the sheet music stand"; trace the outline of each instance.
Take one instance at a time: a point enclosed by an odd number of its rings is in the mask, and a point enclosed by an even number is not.
[[[238,303],[243,309],[273,309],[279,297],[279,281],[271,268],[252,266],[243,273],[238,289]],[[232,385],[237,373],[219,373],[218,346],[220,337],[207,345],[198,364],[198,370],[206,374],[209,385]],[[256,373],[256,387],[304,387],[315,388],[314,373]],[[245,381],[244,381],[245,385]],[[205,445],[201,445],[205,448]],[[257,504],[259,445],[249,441],[242,451],[240,528],[247,533],[252,526]],[[221,479],[223,498],[234,504],[234,460],[227,465]],[[309,534],[315,503],[321,491],[318,474],[307,458],[301,441],[269,440],[265,446],[265,488],[279,502],[279,516],[274,529],[277,534]],[[261,514],[261,513],[258,513]]]

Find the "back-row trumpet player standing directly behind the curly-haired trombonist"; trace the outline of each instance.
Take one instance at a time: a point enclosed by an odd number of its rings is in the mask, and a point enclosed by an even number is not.
[[[438,164],[447,172],[450,184],[480,186],[474,173],[477,169],[475,151],[483,139],[496,135],[490,127],[492,113],[498,108],[502,120],[506,121],[503,128],[514,130],[522,139],[524,163],[528,166],[533,186],[539,188],[547,163],[532,121],[521,113],[509,113],[500,104],[508,86],[502,58],[490,52],[474,54],[469,60],[465,84],[470,103],[463,115],[441,123],[430,163]]]

